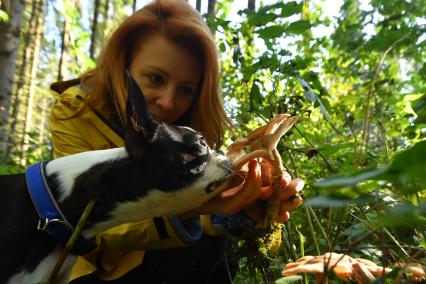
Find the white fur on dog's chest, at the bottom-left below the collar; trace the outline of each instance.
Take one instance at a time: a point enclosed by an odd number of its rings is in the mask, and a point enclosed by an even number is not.
[[[49,280],[50,272],[52,272],[53,268],[56,265],[56,262],[59,259],[60,254],[62,253],[62,249],[57,247],[53,252],[51,252],[48,256],[46,256],[36,267],[36,269],[31,273],[20,272],[13,275],[8,284],[32,284],[32,283],[47,283]],[[75,262],[77,257],[72,254],[68,254],[65,259],[64,264],[61,267],[61,271],[56,278],[55,283],[68,283],[68,278],[71,273],[71,268]]]

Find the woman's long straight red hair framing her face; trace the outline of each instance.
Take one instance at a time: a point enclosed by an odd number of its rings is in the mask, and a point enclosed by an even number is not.
[[[230,125],[223,109],[218,54],[214,38],[200,14],[183,0],[157,0],[128,17],[111,35],[95,69],[82,75],[89,88],[86,106],[117,110],[126,123],[127,81],[134,48],[148,33],[160,33],[202,59],[199,94],[188,110],[189,126],[202,132],[211,147],[223,142],[223,125]]]

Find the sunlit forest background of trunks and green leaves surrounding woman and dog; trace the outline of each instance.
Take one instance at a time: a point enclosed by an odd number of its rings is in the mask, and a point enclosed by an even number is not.
[[[147,2],[0,0],[0,174],[52,159],[50,84],[93,68]],[[327,252],[389,268],[374,283],[415,281],[426,267],[426,0],[189,3],[221,56],[237,130],[224,149],[278,113],[299,118],[278,150],[305,181],[304,203],[277,251],[238,241],[234,283],[314,283],[283,267]],[[343,283],[333,270],[328,281]]]

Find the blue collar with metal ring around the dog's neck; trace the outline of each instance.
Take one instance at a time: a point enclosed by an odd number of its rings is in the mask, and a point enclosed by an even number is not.
[[[41,161],[27,169],[25,173],[27,188],[39,216],[37,229],[47,231],[65,247],[74,228],[62,214],[50,192],[45,179],[46,164],[47,161]],[[87,241],[79,237],[73,246],[73,251],[76,251],[77,254],[89,252],[92,249],[91,245],[88,246],[84,242]]]

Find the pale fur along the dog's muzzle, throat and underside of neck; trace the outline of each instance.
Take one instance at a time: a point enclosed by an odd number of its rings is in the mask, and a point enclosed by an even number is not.
[[[84,236],[91,238],[123,223],[167,216],[200,206],[219,193],[220,189],[211,193],[206,193],[204,189],[212,181],[223,179],[229,173],[220,165],[225,159],[225,156],[216,156],[211,153],[203,176],[195,183],[172,192],[153,189],[142,198],[120,203],[111,212],[111,218],[83,232]]]

